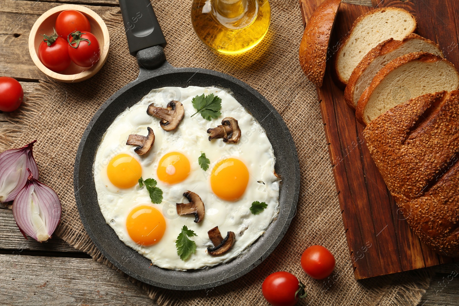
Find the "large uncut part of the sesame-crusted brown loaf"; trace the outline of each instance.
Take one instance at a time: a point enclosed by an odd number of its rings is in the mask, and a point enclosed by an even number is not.
[[[364,129],[369,152],[410,227],[459,256],[459,91],[399,104]]]

